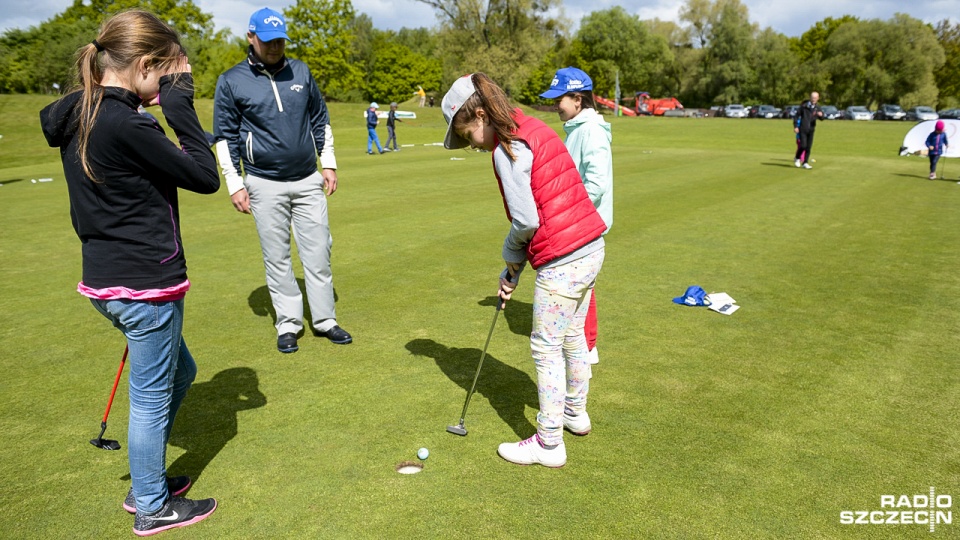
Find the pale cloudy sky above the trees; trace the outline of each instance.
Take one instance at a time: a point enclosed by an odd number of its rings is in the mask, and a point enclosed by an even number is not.
[[[788,36],[799,36],[825,17],[849,14],[861,19],[889,19],[896,12],[926,22],[960,17],[960,0],[741,0],[750,10],[750,20],[761,28],[772,27]],[[194,0],[213,14],[217,29],[234,35],[246,31],[250,14],[264,5],[282,9],[295,0]],[[567,17],[577,24],[592,11],[623,6],[641,19],[677,20],[683,0],[563,0]],[[0,0],[0,30],[27,28],[62,12],[71,0]],[[358,13],[366,13],[380,29],[432,27],[437,19],[426,4],[414,0],[353,0]]]

